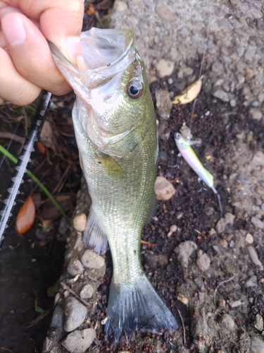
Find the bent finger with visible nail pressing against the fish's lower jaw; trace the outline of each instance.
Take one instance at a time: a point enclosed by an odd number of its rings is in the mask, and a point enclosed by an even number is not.
[[[54,64],[46,38],[31,20],[20,13],[7,13],[1,20],[1,27],[8,53],[20,76],[56,95],[70,91]]]

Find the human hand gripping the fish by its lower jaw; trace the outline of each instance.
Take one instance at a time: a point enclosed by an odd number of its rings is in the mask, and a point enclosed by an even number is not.
[[[82,0],[0,0],[0,104],[29,104],[42,88],[70,91],[46,40],[75,64],[83,11]]]

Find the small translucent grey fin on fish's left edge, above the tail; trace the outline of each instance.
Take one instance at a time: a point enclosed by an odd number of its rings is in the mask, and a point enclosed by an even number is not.
[[[92,210],[90,210],[87,225],[84,229],[83,234],[84,246],[92,249],[95,253],[103,255],[107,250],[107,238],[106,234],[103,233],[101,227],[94,216]]]

